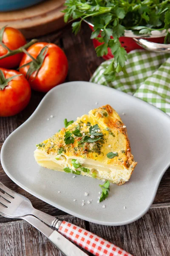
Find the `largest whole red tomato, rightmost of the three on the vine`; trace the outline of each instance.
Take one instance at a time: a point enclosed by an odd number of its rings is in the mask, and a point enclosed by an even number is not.
[[[36,43],[29,47],[27,52],[34,58],[37,58],[40,51],[46,45],[48,45],[48,51],[44,60],[42,61],[42,65],[37,76],[37,71],[34,71],[28,79],[31,88],[41,92],[48,92],[57,84],[61,84],[65,80],[68,73],[67,57],[62,49],[56,44]],[[28,55],[24,54],[20,67],[30,61],[32,61],[32,59]],[[30,66],[28,65],[20,68],[20,72],[26,76],[29,67]]]

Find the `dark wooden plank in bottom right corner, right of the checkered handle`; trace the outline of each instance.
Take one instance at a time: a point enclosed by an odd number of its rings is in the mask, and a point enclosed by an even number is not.
[[[89,223],[92,233],[135,256],[170,255],[170,207],[150,209],[138,221],[119,227]]]

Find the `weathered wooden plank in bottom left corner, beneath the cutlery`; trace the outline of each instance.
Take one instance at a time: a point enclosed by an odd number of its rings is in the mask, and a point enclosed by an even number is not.
[[[85,228],[85,221],[65,216],[64,220]],[[0,256],[63,256],[51,242],[26,221],[0,225]]]

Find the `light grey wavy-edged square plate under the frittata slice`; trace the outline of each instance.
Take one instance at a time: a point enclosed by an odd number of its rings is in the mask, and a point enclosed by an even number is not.
[[[111,184],[107,201],[98,204],[101,180],[81,175],[73,179],[72,174],[42,168],[34,160],[34,150],[37,143],[63,127],[65,118],[76,120],[106,104],[119,113],[127,126],[138,164],[130,180],[122,186]],[[170,118],[119,90],[84,81],[65,83],[48,92],[31,117],[6,139],[1,163],[11,180],[54,207],[97,224],[128,224],[147,212],[170,165]],[[85,192],[89,195],[85,196]]]

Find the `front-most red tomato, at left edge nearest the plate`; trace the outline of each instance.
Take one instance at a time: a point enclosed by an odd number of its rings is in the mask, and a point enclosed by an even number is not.
[[[16,70],[3,71],[5,79],[20,74]],[[30,101],[31,87],[26,78],[21,75],[14,77],[3,89],[2,76],[0,76],[0,116],[14,116],[22,111]]]

